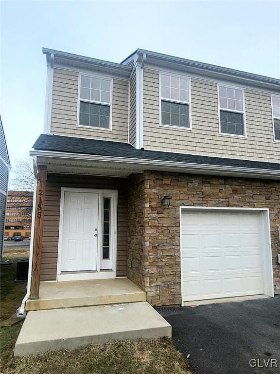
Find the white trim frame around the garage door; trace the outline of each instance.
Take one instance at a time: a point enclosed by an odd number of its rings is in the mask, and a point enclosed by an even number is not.
[[[263,263],[263,294],[274,297],[274,282],[272,269],[272,250],[270,240],[270,221],[268,208],[249,208],[249,207],[219,207],[219,206],[180,206],[180,270],[181,270],[181,306],[184,306],[183,297],[183,258],[182,258],[182,211],[183,210],[197,210],[197,211],[238,211],[238,212],[260,212],[262,225],[262,246],[264,248],[264,263]],[[198,302],[198,301],[197,301]]]

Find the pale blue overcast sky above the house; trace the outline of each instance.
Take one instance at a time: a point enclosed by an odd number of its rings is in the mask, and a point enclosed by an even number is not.
[[[12,167],[43,131],[42,47],[114,62],[143,48],[280,78],[280,1],[1,1],[0,32]]]

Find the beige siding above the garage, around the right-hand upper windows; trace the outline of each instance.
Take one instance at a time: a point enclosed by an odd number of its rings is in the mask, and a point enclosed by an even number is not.
[[[192,130],[159,126],[159,72],[144,70],[143,143],[147,150],[279,162],[270,94],[245,89],[247,137],[219,134],[217,83],[191,78]]]

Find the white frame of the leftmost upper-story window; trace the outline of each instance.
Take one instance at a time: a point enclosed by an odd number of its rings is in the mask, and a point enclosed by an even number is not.
[[[95,101],[95,100],[89,100],[89,99],[81,99],[81,76],[86,75],[89,76],[90,78],[99,78],[99,79],[106,79],[110,81],[110,102],[105,103],[103,101]],[[100,104],[100,105],[106,105],[110,107],[110,118],[109,118],[109,128],[104,129],[103,127],[94,127],[94,126],[84,126],[84,125],[79,125],[80,121],[80,103],[81,101],[85,103],[92,103],[92,104]],[[83,129],[89,129],[89,130],[98,130],[98,131],[112,131],[112,112],[113,112],[113,78],[107,77],[104,75],[98,75],[98,74],[87,74],[83,72],[79,72],[79,83],[78,83],[78,103],[77,103],[77,127],[83,128]]]

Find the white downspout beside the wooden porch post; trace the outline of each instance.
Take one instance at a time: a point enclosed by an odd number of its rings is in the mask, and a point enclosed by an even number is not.
[[[26,287],[26,295],[21,301],[21,305],[17,309],[17,317],[25,318],[25,303],[30,296],[31,289],[31,277],[32,277],[32,265],[33,265],[33,243],[34,243],[34,228],[35,228],[35,210],[36,210],[36,195],[37,195],[37,157],[33,156],[33,168],[34,168],[34,191],[33,191],[33,206],[32,206],[32,223],[31,223],[31,240],[30,240],[30,251],[29,251],[29,266],[28,266],[28,279]]]

